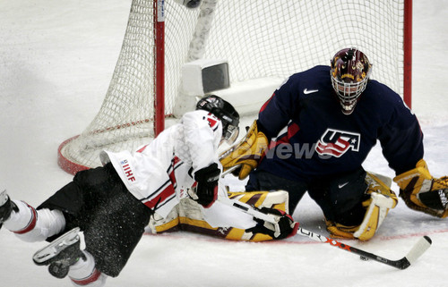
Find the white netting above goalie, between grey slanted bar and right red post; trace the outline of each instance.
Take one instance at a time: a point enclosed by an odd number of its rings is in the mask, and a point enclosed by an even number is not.
[[[219,1],[204,57],[227,58],[231,81],[284,78],[356,46],[401,92],[402,16],[392,0]]]

